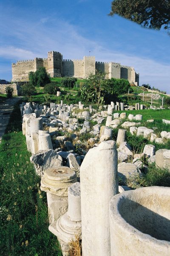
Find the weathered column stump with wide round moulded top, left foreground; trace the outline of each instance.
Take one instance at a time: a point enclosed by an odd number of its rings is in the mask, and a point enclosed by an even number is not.
[[[67,211],[68,187],[75,182],[77,182],[76,173],[65,166],[49,168],[44,172],[40,188],[47,192],[50,224]]]

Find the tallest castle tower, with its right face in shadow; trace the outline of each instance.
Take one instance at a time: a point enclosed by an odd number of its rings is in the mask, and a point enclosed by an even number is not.
[[[51,77],[62,76],[62,54],[60,52],[48,52],[48,73]]]

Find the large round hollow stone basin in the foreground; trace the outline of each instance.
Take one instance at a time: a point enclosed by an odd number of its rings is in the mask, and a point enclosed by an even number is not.
[[[111,256],[170,256],[170,188],[145,187],[113,196]]]

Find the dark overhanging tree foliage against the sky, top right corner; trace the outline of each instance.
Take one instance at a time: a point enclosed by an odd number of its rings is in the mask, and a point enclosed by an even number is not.
[[[120,15],[150,29],[170,28],[170,1],[114,0],[110,15]],[[169,32],[169,31],[168,31]]]

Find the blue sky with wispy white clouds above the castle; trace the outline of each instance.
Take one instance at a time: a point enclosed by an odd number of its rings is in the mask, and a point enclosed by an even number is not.
[[[139,84],[170,93],[170,36],[109,17],[111,0],[0,0],[0,79],[11,80],[11,63],[47,52],[65,59],[96,56],[132,66]]]

